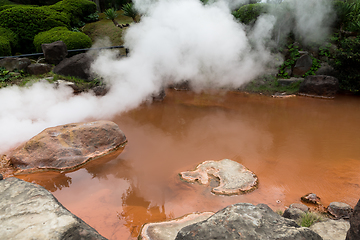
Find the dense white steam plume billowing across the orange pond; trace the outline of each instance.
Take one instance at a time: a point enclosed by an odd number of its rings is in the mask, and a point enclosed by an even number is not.
[[[239,87],[272,62],[265,42],[276,21],[273,16],[260,17],[246,33],[225,1],[206,6],[198,0],[135,4],[144,15],[126,32],[130,56],[117,59],[116,52],[104,51],[93,64],[111,87],[106,96],[73,96],[69,88],[54,89],[47,83],[0,90],[0,152],[46,127],[110,118],[135,108],[170,83],[189,80],[198,91]]]

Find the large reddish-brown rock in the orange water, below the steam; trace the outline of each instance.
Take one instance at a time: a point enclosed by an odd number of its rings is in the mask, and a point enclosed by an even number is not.
[[[67,171],[113,152],[125,143],[124,133],[113,122],[73,123],[45,129],[17,147],[8,158],[20,173]]]

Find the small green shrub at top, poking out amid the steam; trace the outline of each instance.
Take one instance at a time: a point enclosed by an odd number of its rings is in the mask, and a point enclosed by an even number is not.
[[[236,19],[244,24],[251,24],[263,13],[267,12],[268,5],[264,3],[247,4],[233,12]]]

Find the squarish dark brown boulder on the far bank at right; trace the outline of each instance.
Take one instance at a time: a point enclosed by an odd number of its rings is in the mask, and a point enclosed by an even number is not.
[[[334,98],[339,89],[339,80],[332,76],[307,76],[300,84],[299,95]]]

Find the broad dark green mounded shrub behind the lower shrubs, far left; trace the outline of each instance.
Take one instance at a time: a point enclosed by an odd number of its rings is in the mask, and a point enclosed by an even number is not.
[[[34,36],[58,26],[68,27],[69,19],[48,7],[16,6],[0,14],[0,27],[12,30],[19,37],[16,50],[20,52],[34,51]]]

